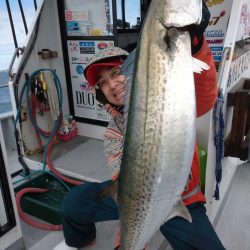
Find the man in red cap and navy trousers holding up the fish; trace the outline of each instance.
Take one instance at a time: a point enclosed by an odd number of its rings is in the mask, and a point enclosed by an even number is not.
[[[197,116],[208,112],[217,96],[216,71],[214,61],[203,32],[209,20],[209,12],[198,27],[192,27],[193,56],[204,61],[210,70],[194,74]],[[133,57],[134,52],[130,57]],[[112,173],[112,179],[119,178],[123,141],[123,104],[126,91],[126,77],[121,72],[121,64],[128,53],[112,47],[98,54],[85,68],[84,74],[89,84],[95,87],[96,98],[111,114],[111,120],[104,135],[105,154]],[[160,227],[160,231],[173,249],[224,249],[211,223],[206,216],[205,197],[199,188],[200,163],[195,146],[189,181],[183,192],[182,200],[187,206],[192,223],[181,217],[174,217]],[[55,249],[77,249],[94,242],[95,223],[117,220],[118,207],[111,197],[100,198],[100,193],[112,181],[87,183],[77,186],[65,197],[62,207],[62,224],[65,242]],[[66,243],[66,244],[65,244]],[[115,249],[119,249],[119,234]]]

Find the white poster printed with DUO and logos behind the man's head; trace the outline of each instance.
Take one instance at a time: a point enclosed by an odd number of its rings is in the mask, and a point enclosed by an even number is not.
[[[72,94],[75,116],[98,121],[109,121],[109,115],[104,111],[91,92],[83,70],[89,60],[101,50],[114,46],[113,41],[70,40],[67,41]]]

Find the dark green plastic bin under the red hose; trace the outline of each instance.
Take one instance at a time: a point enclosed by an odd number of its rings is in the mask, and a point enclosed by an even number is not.
[[[67,184],[70,188],[72,185]],[[61,224],[60,204],[68,192],[55,177],[48,173],[38,175],[14,189],[15,193],[24,188],[44,188],[45,193],[26,193],[21,198],[23,211],[53,225]]]

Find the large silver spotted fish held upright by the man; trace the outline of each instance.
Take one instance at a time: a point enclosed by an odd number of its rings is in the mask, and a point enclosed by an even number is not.
[[[185,26],[200,22],[201,5],[201,0],[152,0],[142,28],[118,185],[121,250],[142,250],[167,218],[190,216],[180,202],[196,132]]]

